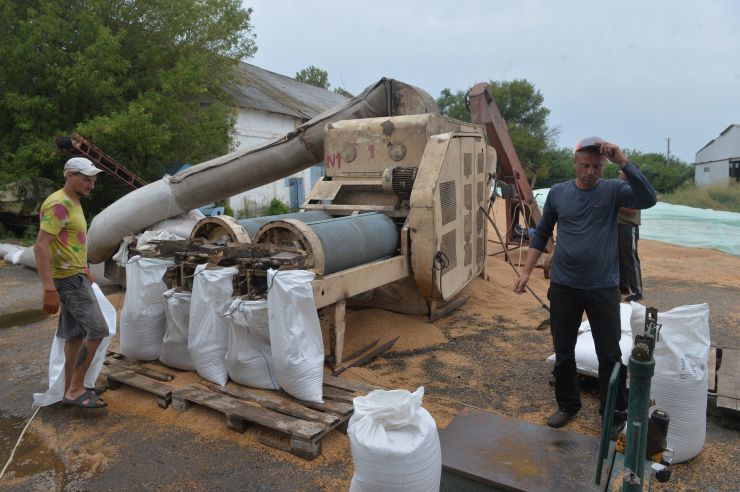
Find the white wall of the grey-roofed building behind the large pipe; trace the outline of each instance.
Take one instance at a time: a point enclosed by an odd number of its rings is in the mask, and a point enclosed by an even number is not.
[[[302,123],[299,118],[287,115],[239,108],[231,133],[234,150],[262,145],[293,131]],[[311,169],[305,169],[290,177],[303,178],[304,196],[308,195],[311,190]],[[254,211],[255,207],[266,207],[273,198],[279,198],[290,205],[290,193],[289,180],[283,178],[232,196],[229,199],[229,206],[235,213],[243,212],[245,208]]]

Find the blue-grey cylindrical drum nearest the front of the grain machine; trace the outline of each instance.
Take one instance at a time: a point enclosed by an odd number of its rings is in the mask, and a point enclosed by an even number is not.
[[[320,275],[388,258],[396,253],[396,224],[380,212],[303,223],[295,219],[263,225],[255,243],[291,246],[309,252],[309,265]]]

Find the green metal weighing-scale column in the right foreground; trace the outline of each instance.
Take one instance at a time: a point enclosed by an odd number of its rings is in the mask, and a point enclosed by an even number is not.
[[[645,332],[635,337],[629,360],[630,389],[627,412],[627,427],[616,442],[611,439],[614,422],[614,407],[617,399],[620,363],[614,365],[609,379],[609,393],[604,409],[604,423],[599,442],[596,462],[596,485],[602,490],[613,490],[612,483],[622,476],[622,491],[641,491],[648,484],[652,490],[653,480],[666,482],[670,479],[670,461],[673,452],[667,447],[668,414],[655,410],[650,414],[650,381],[655,372],[653,351],[658,340],[660,325],[658,310],[647,308]],[[645,465],[649,476],[645,479]],[[602,480],[606,465],[606,477]]]

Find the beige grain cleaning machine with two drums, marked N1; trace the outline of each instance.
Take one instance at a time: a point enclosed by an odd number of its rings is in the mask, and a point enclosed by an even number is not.
[[[496,152],[476,125],[418,114],[331,122],[324,153],[325,176],[301,212],[208,217],[160,254],[176,258],[171,287],[187,288],[198,263],[232,265],[234,294],[248,298],[265,295],[269,268],[315,272],[339,365],[348,299],[390,288],[383,302],[423,304],[431,316],[464,302],[456,295],[485,268]]]

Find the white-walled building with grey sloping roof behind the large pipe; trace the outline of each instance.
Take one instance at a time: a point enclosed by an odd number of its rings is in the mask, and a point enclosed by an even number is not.
[[[261,145],[281,137],[311,118],[347,101],[347,97],[248,63],[239,63],[235,84],[228,87],[238,109],[231,138],[234,149]],[[309,163],[307,163],[309,164]],[[230,198],[234,211],[254,210],[279,198],[292,208],[323,175],[323,164]]]

